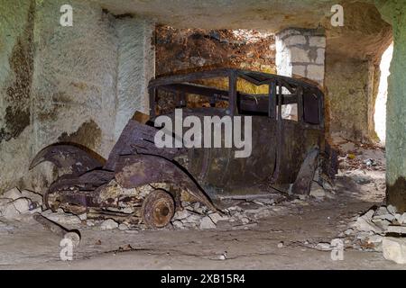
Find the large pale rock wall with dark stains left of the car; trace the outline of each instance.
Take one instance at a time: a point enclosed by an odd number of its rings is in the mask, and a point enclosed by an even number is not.
[[[134,111],[148,110],[154,25],[74,0],[73,26],[62,27],[64,1],[2,2],[0,193],[41,190],[57,172],[28,171],[39,150],[68,141],[107,157]]]

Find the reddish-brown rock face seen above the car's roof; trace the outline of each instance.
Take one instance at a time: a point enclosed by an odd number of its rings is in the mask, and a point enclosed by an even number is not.
[[[272,33],[247,30],[175,29],[157,26],[156,75],[218,67],[275,73]]]

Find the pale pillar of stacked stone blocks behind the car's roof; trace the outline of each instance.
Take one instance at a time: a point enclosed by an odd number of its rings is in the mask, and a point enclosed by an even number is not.
[[[279,75],[305,77],[323,86],[326,36],[322,31],[286,29],[275,40]]]

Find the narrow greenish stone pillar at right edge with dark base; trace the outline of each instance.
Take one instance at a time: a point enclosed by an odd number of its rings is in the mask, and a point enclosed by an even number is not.
[[[376,2],[392,23],[394,42],[386,103],[386,200],[406,211],[406,14],[404,1]]]

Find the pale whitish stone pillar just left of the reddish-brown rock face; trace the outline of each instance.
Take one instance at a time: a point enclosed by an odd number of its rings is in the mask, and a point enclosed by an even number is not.
[[[154,29],[154,23],[142,18],[115,20],[118,36],[115,139],[135,111],[149,113],[148,83],[155,76]]]

